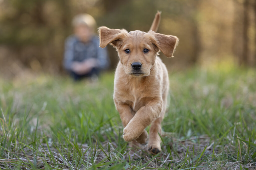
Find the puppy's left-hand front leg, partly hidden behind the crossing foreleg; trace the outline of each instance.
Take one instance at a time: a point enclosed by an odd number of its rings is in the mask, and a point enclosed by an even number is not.
[[[130,122],[130,120],[133,118],[133,115],[135,113],[128,104],[118,103],[115,101],[115,105],[116,105],[116,110],[120,114],[122,124],[124,127],[126,127],[126,125]],[[144,130],[140,133],[139,137],[136,138],[136,141],[138,143],[145,143],[147,140],[147,135],[148,135],[147,131],[144,128]]]

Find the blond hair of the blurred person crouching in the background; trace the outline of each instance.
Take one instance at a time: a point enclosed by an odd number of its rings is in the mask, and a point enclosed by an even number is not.
[[[96,28],[96,21],[95,19],[89,14],[78,14],[73,17],[72,25],[73,27],[77,27],[78,25],[87,25],[92,30]]]

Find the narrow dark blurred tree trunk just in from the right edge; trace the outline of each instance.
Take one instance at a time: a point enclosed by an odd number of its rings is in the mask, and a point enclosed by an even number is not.
[[[243,52],[239,65],[248,65],[248,28],[249,28],[249,0],[243,2]]]

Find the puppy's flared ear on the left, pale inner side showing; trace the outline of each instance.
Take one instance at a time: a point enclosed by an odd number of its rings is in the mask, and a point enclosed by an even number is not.
[[[122,40],[129,34],[126,30],[109,29],[107,27],[99,27],[100,47],[104,48],[108,44],[118,47],[122,44]]]

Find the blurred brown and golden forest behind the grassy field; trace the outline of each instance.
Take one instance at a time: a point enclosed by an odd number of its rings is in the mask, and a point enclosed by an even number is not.
[[[158,32],[180,40],[175,58],[161,54],[167,67],[222,60],[256,66],[255,0],[0,0],[0,75],[62,74],[64,42],[76,14],[92,15],[98,26],[148,31],[157,10]],[[108,49],[114,69],[118,56]]]

